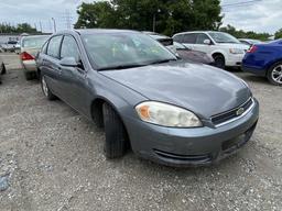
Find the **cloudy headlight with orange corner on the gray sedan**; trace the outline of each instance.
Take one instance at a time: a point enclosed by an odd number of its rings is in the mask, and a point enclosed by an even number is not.
[[[144,122],[172,127],[197,127],[203,126],[199,119],[191,111],[154,101],[138,104],[135,110]]]

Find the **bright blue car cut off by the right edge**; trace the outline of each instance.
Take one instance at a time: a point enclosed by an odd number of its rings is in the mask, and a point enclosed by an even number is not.
[[[256,44],[242,59],[242,69],[268,77],[273,85],[282,85],[282,40]]]

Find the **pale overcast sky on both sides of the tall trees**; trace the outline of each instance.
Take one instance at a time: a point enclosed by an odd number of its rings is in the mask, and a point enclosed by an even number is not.
[[[28,22],[43,31],[53,30],[52,18],[58,30],[77,20],[76,8],[91,0],[0,0],[0,23]],[[242,3],[241,2],[249,2]],[[237,4],[238,3],[238,4]],[[274,33],[282,27],[282,0],[221,0],[224,25],[231,24],[246,31]]]

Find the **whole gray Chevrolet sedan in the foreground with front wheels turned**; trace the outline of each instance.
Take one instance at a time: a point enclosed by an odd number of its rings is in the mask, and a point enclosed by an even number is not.
[[[37,58],[42,90],[105,127],[105,154],[128,147],[172,166],[215,163],[243,146],[259,118],[245,81],[183,63],[134,31],[54,34]]]

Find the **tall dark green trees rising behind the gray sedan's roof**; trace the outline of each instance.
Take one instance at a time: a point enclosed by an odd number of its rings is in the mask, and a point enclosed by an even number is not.
[[[111,0],[78,7],[76,29],[113,27],[172,35],[191,30],[217,30],[219,0]]]

